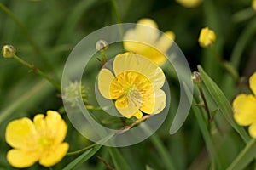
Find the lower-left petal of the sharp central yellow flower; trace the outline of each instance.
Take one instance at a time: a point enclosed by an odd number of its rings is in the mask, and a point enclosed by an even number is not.
[[[134,114],[137,114],[139,106],[131,105],[127,98],[117,99],[115,101],[115,107],[122,116],[126,118],[131,118]]]

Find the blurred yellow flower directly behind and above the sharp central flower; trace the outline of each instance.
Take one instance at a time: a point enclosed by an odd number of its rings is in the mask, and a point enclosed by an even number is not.
[[[135,29],[125,32],[125,50],[140,54],[151,59],[157,65],[166,62],[165,53],[172,46],[175,35],[172,31],[166,31],[160,37],[158,26],[151,19],[141,19]]]

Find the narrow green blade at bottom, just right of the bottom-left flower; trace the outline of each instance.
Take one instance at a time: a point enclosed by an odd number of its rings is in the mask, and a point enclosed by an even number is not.
[[[88,159],[90,159],[91,156],[94,156],[96,152],[101,149],[101,147],[102,147],[101,144],[96,144],[94,148],[90,150],[86,150],[84,154],[82,154],[81,156],[77,157],[75,160],[70,162],[66,167],[63,168],[63,170],[75,169],[75,167],[78,167],[79,165],[84,163],[84,161],[87,161]]]

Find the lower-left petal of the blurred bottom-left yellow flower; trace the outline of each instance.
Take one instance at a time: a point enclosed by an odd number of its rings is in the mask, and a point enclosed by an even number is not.
[[[7,160],[13,167],[31,167],[38,161],[38,153],[26,150],[9,150],[7,153]]]

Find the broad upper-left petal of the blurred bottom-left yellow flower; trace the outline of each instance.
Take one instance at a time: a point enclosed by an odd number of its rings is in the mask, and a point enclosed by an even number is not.
[[[38,139],[38,133],[32,121],[21,118],[9,122],[5,133],[6,142],[17,149],[30,149]]]

